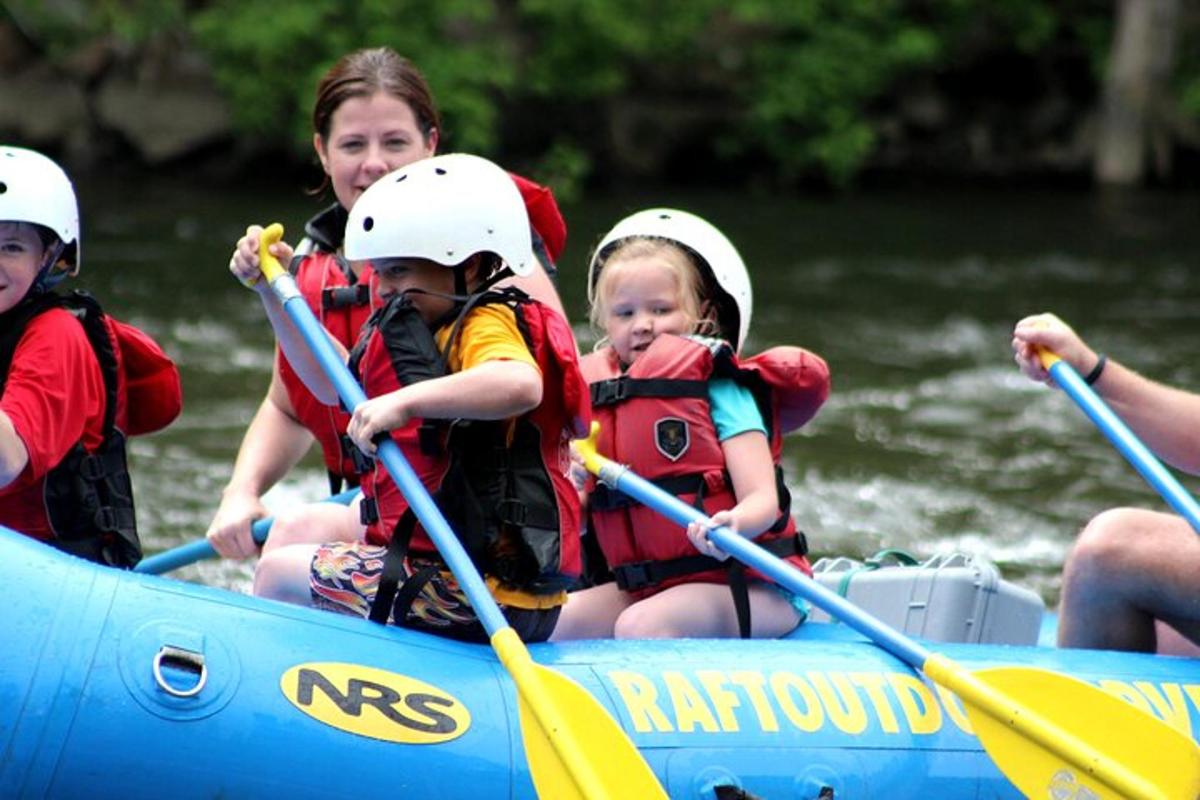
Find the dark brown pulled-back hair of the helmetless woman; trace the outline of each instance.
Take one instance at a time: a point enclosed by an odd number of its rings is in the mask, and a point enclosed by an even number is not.
[[[317,84],[317,100],[312,107],[312,130],[322,139],[329,138],[334,112],[352,97],[370,97],[385,91],[408,103],[416,118],[416,127],[428,140],[442,119],[433,103],[433,94],[425,76],[416,66],[390,47],[376,47],[347,53],[329,68]]]

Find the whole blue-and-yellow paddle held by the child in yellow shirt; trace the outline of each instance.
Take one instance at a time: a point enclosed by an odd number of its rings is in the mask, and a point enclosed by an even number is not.
[[[259,247],[263,276],[342,403],[349,409],[358,408],[366,401],[362,387],[329,343],[295,281],[266,249],[282,236],[283,227],[278,223],[263,231]],[[458,579],[491,637],[492,648],[517,686],[521,733],[538,796],[545,800],[665,800],[666,792],[653,770],[604,706],[562,673],[533,661],[396,443],[383,437],[377,455]]]

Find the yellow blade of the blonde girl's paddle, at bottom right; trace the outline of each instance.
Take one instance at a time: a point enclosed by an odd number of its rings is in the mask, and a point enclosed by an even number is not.
[[[1010,700],[997,720],[986,700],[959,693],[988,754],[1027,796],[1200,795],[1200,748],[1126,700],[1044,669],[996,667],[971,675]]]

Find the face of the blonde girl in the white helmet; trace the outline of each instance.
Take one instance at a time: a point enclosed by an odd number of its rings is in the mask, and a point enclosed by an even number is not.
[[[622,363],[634,363],[661,333],[691,332],[696,320],[684,311],[676,272],[661,257],[610,260],[604,269],[613,270],[604,329]]]

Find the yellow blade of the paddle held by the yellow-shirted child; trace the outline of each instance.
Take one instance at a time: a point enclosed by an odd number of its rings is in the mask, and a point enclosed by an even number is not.
[[[529,657],[511,627],[492,637],[517,685],[521,736],[542,800],[667,800],[625,730],[582,686]]]

